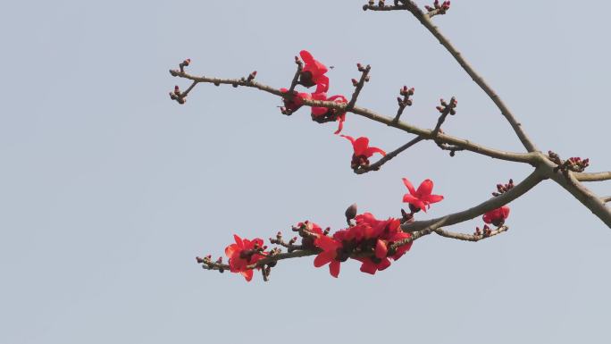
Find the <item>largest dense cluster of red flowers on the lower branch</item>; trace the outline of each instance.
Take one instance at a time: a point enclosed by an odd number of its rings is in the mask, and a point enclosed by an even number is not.
[[[398,260],[412,247],[406,239],[411,234],[401,231],[398,219],[378,220],[370,213],[356,215],[356,224],[336,231],[332,236],[316,234],[314,246],[322,250],[314,259],[314,266],[329,264],[331,276],[338,277],[339,265],[353,258],[361,262],[361,271],[374,274],[390,266],[390,259]],[[394,243],[404,245],[389,249]]]

